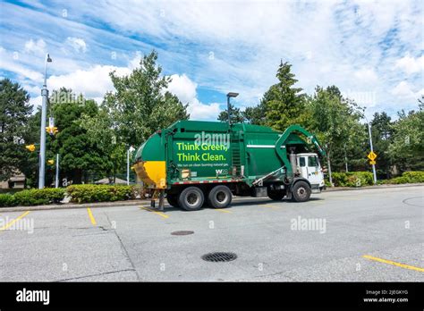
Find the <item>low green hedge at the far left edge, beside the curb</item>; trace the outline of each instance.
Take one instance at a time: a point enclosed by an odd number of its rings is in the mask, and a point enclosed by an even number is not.
[[[0,194],[0,207],[38,206],[59,203],[64,199],[65,190],[46,188],[21,190],[15,194]]]

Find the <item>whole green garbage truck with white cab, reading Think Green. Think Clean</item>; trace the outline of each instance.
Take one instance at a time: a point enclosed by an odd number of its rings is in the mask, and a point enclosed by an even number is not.
[[[133,168],[151,189],[188,211],[225,208],[233,196],[310,199],[325,187],[318,139],[299,125],[278,131],[259,125],[179,121],[157,130],[137,150]]]

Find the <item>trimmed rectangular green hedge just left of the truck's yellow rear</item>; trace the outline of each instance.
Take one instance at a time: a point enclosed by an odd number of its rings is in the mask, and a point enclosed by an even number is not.
[[[134,186],[72,185],[66,192],[71,201],[77,203],[121,201],[137,195]]]

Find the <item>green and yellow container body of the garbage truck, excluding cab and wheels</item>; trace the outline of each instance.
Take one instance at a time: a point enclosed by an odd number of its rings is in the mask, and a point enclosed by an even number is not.
[[[288,196],[287,189],[301,179],[289,154],[314,147],[325,155],[318,140],[298,125],[281,132],[245,123],[230,127],[225,122],[179,121],[141,145],[134,168],[150,189],[166,193],[168,201],[174,196],[175,205],[189,186],[208,197],[216,184],[225,184],[235,195],[263,194],[260,189],[269,192],[281,185]]]

